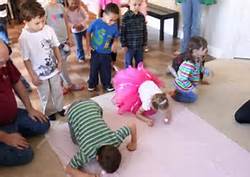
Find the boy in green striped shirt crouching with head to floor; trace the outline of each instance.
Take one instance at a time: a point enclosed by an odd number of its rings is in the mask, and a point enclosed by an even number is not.
[[[131,135],[131,142],[127,145],[127,149],[136,150],[135,124],[112,131],[103,120],[102,115],[102,108],[92,100],[76,101],[68,108],[67,117],[71,137],[80,150],[66,167],[67,174],[99,176],[79,170],[92,159],[96,159],[105,172],[114,173],[121,162],[118,147],[129,135]]]

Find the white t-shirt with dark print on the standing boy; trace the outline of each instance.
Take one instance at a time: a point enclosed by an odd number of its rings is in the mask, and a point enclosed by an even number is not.
[[[31,61],[39,79],[46,80],[58,73],[53,47],[58,47],[60,43],[51,27],[45,25],[38,32],[30,32],[24,27],[19,44],[23,59]]]

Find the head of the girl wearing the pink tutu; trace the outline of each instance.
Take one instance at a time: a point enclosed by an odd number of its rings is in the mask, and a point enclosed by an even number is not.
[[[168,98],[165,93],[157,93],[151,99],[155,110],[165,110],[168,108]]]

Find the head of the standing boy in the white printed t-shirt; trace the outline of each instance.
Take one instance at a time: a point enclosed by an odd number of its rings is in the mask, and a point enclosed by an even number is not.
[[[45,25],[45,11],[36,1],[27,1],[22,5],[21,17],[32,32],[42,30]]]

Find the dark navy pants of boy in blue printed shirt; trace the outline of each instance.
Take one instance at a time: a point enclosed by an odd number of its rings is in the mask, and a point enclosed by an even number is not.
[[[96,51],[91,52],[89,88],[95,88],[98,85],[98,75],[100,73],[101,82],[104,89],[112,87],[111,85],[111,53],[100,54]]]

